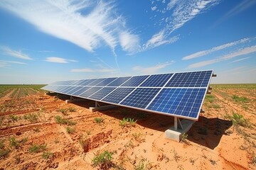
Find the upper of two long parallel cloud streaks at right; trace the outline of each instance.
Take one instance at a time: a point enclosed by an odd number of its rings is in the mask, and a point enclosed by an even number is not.
[[[229,42],[229,43],[226,43],[224,45],[219,45],[217,47],[212,47],[209,50],[203,50],[203,51],[200,51],[200,52],[195,52],[191,55],[187,55],[186,57],[183,57],[182,60],[191,60],[193,58],[202,57],[204,55],[209,55],[210,53],[213,53],[213,52],[216,52],[216,51],[219,51],[219,50],[223,50],[225,48],[232,47],[232,46],[235,46],[235,45],[239,45],[241,43],[248,42],[251,39],[252,38],[243,38],[241,40],[237,40],[237,41],[234,41],[234,42]]]

